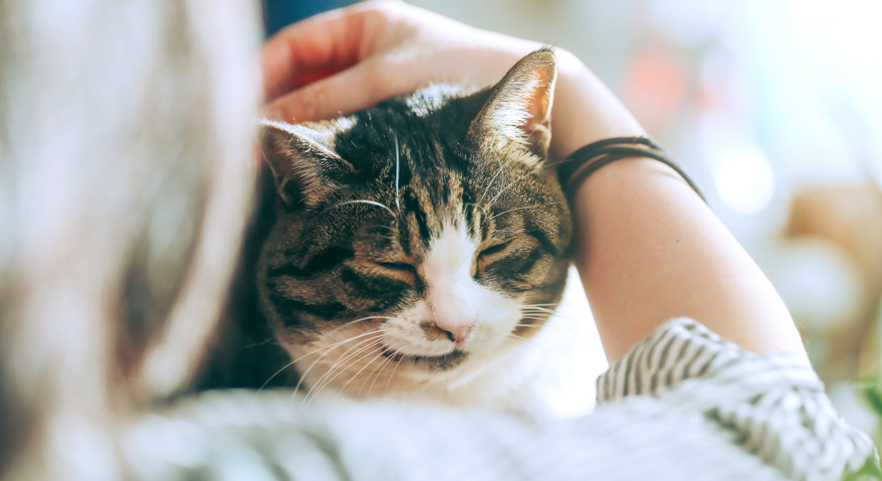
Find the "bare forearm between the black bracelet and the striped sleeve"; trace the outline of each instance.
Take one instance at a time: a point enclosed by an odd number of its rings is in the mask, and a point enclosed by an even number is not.
[[[744,349],[805,357],[771,283],[669,167],[613,162],[579,188],[574,211],[576,264],[610,360],[681,316]]]

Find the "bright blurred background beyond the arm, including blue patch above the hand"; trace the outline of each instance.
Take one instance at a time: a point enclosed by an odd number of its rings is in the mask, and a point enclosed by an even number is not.
[[[266,0],[267,34],[349,3]],[[880,439],[882,2],[411,3],[594,69],[772,280],[843,415]]]

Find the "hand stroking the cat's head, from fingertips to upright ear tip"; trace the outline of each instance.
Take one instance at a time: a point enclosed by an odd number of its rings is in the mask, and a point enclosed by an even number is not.
[[[364,109],[430,82],[490,85],[539,47],[404,2],[356,4],[288,26],[266,42],[266,111],[302,122]]]

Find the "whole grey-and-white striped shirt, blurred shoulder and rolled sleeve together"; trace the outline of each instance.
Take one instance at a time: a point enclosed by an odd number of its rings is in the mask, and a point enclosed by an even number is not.
[[[392,402],[302,406],[285,391],[191,398],[131,426],[144,481],[879,479],[871,441],[810,368],[676,319],[598,380],[585,417]]]

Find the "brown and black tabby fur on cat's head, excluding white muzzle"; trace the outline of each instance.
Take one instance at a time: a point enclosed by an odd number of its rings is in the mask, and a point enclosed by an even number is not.
[[[265,122],[278,195],[256,277],[278,341],[312,342],[413,305],[426,295],[431,241],[451,223],[479,242],[475,282],[522,304],[557,304],[572,222],[545,162],[554,80],[542,49],[475,93],[433,86],[331,121]],[[430,340],[447,334],[431,319],[420,327]],[[465,357],[453,350],[430,366],[447,371]]]

